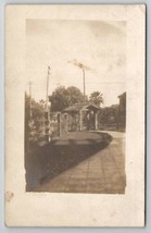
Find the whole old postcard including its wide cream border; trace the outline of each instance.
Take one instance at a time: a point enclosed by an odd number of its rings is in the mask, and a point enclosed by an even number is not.
[[[144,225],[144,4],[5,7],[5,224]]]

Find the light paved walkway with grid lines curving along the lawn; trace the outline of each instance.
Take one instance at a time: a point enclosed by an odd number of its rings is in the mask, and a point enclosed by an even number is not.
[[[124,194],[125,133],[108,132],[111,144],[76,167],[48,180],[38,192]]]

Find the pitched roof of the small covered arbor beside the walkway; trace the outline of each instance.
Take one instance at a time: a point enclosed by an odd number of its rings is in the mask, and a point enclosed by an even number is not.
[[[75,103],[74,106],[65,108],[63,112],[97,111],[100,108],[93,103]]]

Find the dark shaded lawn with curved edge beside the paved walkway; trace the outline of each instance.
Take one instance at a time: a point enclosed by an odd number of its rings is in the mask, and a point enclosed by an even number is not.
[[[78,137],[83,134],[83,137]],[[26,191],[55,177],[105,148],[112,140],[106,133],[83,133],[74,139],[54,139],[49,145],[35,147],[25,154]],[[89,137],[85,137],[89,135]]]

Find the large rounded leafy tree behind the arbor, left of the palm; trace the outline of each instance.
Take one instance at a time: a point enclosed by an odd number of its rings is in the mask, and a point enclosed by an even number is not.
[[[51,111],[62,111],[66,107],[75,103],[79,103],[84,100],[84,96],[77,87],[71,86],[65,88],[64,86],[58,87],[51,96],[49,101],[51,102]]]

